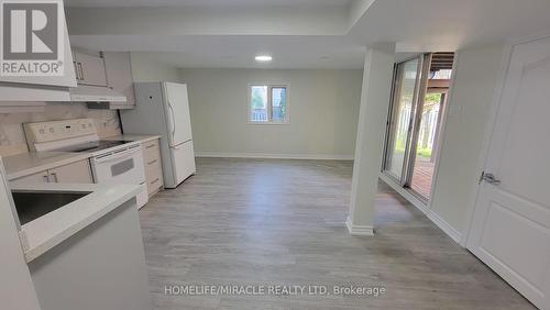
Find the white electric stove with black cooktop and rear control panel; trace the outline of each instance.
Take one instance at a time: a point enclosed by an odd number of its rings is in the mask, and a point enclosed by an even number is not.
[[[91,119],[26,123],[24,130],[31,151],[88,153],[95,182],[141,185],[138,207],[147,203],[140,142],[100,140]]]

